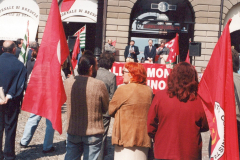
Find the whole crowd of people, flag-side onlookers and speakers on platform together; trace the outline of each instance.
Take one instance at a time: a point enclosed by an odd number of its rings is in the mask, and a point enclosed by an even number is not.
[[[12,41],[5,41],[4,53],[0,55],[0,87],[6,95],[6,100],[0,101],[0,145],[5,129],[5,146],[0,159],[16,157],[18,115],[38,54],[39,45],[34,42],[31,57],[24,66],[16,56],[21,43],[20,40],[16,46]],[[139,51],[134,43],[131,41],[125,49],[125,58],[130,60],[122,69],[121,86],[117,86],[116,75],[109,71],[115,61],[113,53],[109,52],[102,53],[99,60],[91,51],[84,52],[76,67],[77,74],[68,78],[63,76],[67,95],[65,160],[77,160],[82,155],[84,160],[104,160],[111,117],[114,117],[112,144],[115,160],[147,160],[152,145],[156,160],[201,160],[200,133],[208,131],[209,127],[198,96],[199,77],[194,66],[187,62],[175,65],[168,77],[167,88],[153,95],[152,89],[146,85],[145,68],[136,63]],[[169,52],[165,43],[162,41],[162,48],[156,53],[149,40],[145,59],[154,62],[156,54],[164,59]],[[240,87],[237,82],[240,76],[236,73],[239,57],[234,50],[232,55],[236,119],[239,120]],[[19,142],[21,147],[29,145],[40,120],[41,116],[30,115]],[[55,151],[54,129],[48,119],[46,126],[43,153],[50,153]]]

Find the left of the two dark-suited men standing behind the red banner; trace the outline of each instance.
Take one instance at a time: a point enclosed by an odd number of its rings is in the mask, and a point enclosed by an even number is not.
[[[135,44],[135,41],[131,40],[130,45],[126,46],[125,48],[124,56],[125,56],[125,60],[127,58],[132,58],[134,59],[134,62],[138,62],[137,55],[139,55],[139,49],[137,46],[134,46],[134,44]]]

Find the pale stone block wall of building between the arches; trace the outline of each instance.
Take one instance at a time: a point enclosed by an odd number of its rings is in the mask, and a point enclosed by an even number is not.
[[[52,0],[36,0],[40,7],[40,23],[38,28],[38,41],[41,42],[46,20]],[[188,1],[188,0],[186,0]],[[161,2],[159,0],[159,2]],[[195,66],[198,71],[206,67],[212,51],[218,41],[221,0],[189,0],[195,14],[194,41],[201,42],[201,57],[196,57]],[[117,60],[124,61],[124,49],[129,43],[130,16],[137,0],[108,0],[106,33],[104,41],[116,40]],[[223,23],[228,12],[240,0],[224,0]],[[239,7],[240,9],[240,7]],[[223,27],[222,27],[223,28]]]

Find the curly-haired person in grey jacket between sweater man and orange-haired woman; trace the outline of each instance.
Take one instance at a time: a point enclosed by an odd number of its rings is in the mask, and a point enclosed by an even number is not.
[[[96,79],[101,80],[105,83],[108,93],[109,101],[112,100],[113,94],[117,89],[116,84],[116,75],[112,72],[109,72],[109,69],[112,68],[113,62],[115,61],[114,55],[111,53],[103,53],[99,58],[99,69],[97,71]],[[104,134],[103,142],[101,147],[101,152],[98,156],[98,160],[104,160],[104,157],[107,155],[107,133],[109,129],[111,117],[108,112],[103,114],[103,125],[104,125]]]

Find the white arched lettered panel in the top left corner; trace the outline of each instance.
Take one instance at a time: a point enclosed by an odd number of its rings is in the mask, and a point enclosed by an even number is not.
[[[29,21],[29,40],[35,41],[39,6],[35,0],[0,0],[0,40],[24,37]]]

